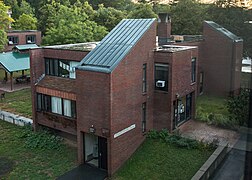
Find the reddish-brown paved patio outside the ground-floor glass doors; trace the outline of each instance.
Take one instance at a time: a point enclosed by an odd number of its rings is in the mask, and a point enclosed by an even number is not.
[[[206,123],[190,120],[180,126],[182,136],[212,142],[218,139],[219,142],[228,142],[230,147],[236,143],[240,135],[237,131],[209,126]]]

